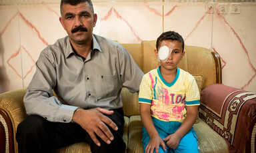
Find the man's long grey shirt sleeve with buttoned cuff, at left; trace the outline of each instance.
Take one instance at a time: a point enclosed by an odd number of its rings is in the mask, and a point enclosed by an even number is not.
[[[77,107],[62,104],[53,96],[57,84],[53,58],[42,52],[35,66],[35,75],[24,97],[27,114],[37,114],[51,122],[71,122]]]

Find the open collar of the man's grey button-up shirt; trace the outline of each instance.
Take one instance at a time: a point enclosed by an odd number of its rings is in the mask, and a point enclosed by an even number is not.
[[[65,43],[66,43],[66,51],[65,51],[65,58],[67,59],[70,55],[73,55],[75,54],[73,49],[72,49],[72,46],[71,46],[71,43],[69,41],[69,36],[65,37]],[[97,39],[95,39],[95,35],[93,35],[93,49],[92,51],[101,51],[101,47],[99,47],[99,43],[97,42]]]

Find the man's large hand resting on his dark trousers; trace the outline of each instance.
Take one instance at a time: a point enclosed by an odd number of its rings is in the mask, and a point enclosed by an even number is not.
[[[77,108],[73,115],[73,121],[86,130],[97,146],[101,146],[101,143],[95,134],[97,134],[97,136],[99,136],[99,138],[101,138],[104,142],[110,144],[114,137],[107,125],[114,130],[118,130],[117,125],[103,114],[113,114],[113,110],[106,110],[103,108],[83,110],[81,108]]]

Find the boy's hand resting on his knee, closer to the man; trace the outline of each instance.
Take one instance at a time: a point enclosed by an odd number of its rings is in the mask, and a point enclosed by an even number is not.
[[[161,137],[157,134],[156,136],[152,136],[149,140],[149,143],[146,146],[145,153],[153,153],[154,150],[156,153],[159,153],[159,146],[163,146],[163,150],[166,150],[165,142],[161,139]]]

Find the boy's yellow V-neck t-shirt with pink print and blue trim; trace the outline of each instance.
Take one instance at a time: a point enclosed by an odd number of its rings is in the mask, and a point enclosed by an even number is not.
[[[163,79],[159,67],[145,74],[139,87],[139,102],[151,104],[151,116],[163,121],[183,122],[185,106],[199,105],[199,99],[195,78],[179,68],[171,83]]]

